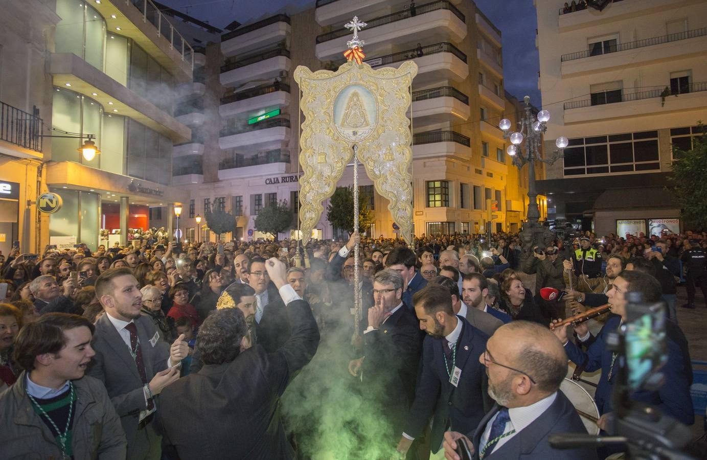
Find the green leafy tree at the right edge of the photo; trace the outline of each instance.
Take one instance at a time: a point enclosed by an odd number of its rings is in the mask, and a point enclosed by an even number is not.
[[[673,148],[674,192],[684,225],[691,230],[707,228],[707,131],[699,126],[703,134],[693,138],[692,150]]]

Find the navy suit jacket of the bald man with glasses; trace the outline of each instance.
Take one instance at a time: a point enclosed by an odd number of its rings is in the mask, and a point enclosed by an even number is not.
[[[486,414],[481,420],[477,430],[474,432],[472,442],[474,442],[474,460],[479,460],[479,443],[481,435],[489,420],[496,415],[499,406]],[[498,447],[491,454],[486,454],[484,460],[505,460],[505,459],[537,459],[537,460],[595,460],[597,451],[594,447],[581,447],[578,449],[553,449],[550,447],[547,438],[556,433],[587,433],[582,420],[577,415],[571,401],[567,399],[562,391],[557,391],[557,397],[552,405],[547,408],[530,425],[516,433],[506,444]]]

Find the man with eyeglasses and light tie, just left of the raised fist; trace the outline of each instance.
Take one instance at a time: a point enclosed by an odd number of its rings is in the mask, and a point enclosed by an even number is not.
[[[274,353],[290,336],[285,304],[265,269],[265,259],[250,261],[248,284],[255,290],[255,332],[258,344]]]

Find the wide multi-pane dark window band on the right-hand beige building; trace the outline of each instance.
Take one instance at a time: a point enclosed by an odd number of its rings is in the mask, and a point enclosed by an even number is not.
[[[570,139],[564,175],[660,170],[658,131]]]

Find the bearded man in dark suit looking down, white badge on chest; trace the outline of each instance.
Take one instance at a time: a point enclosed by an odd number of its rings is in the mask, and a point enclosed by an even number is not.
[[[445,278],[445,277],[440,277]],[[445,278],[456,290],[457,284]],[[486,372],[479,356],[489,336],[454,314],[449,287],[431,281],[413,297],[420,329],[426,331],[422,372],[407,427],[397,451],[407,453],[434,415],[430,448],[436,453],[449,427],[469,432],[484,417]]]

